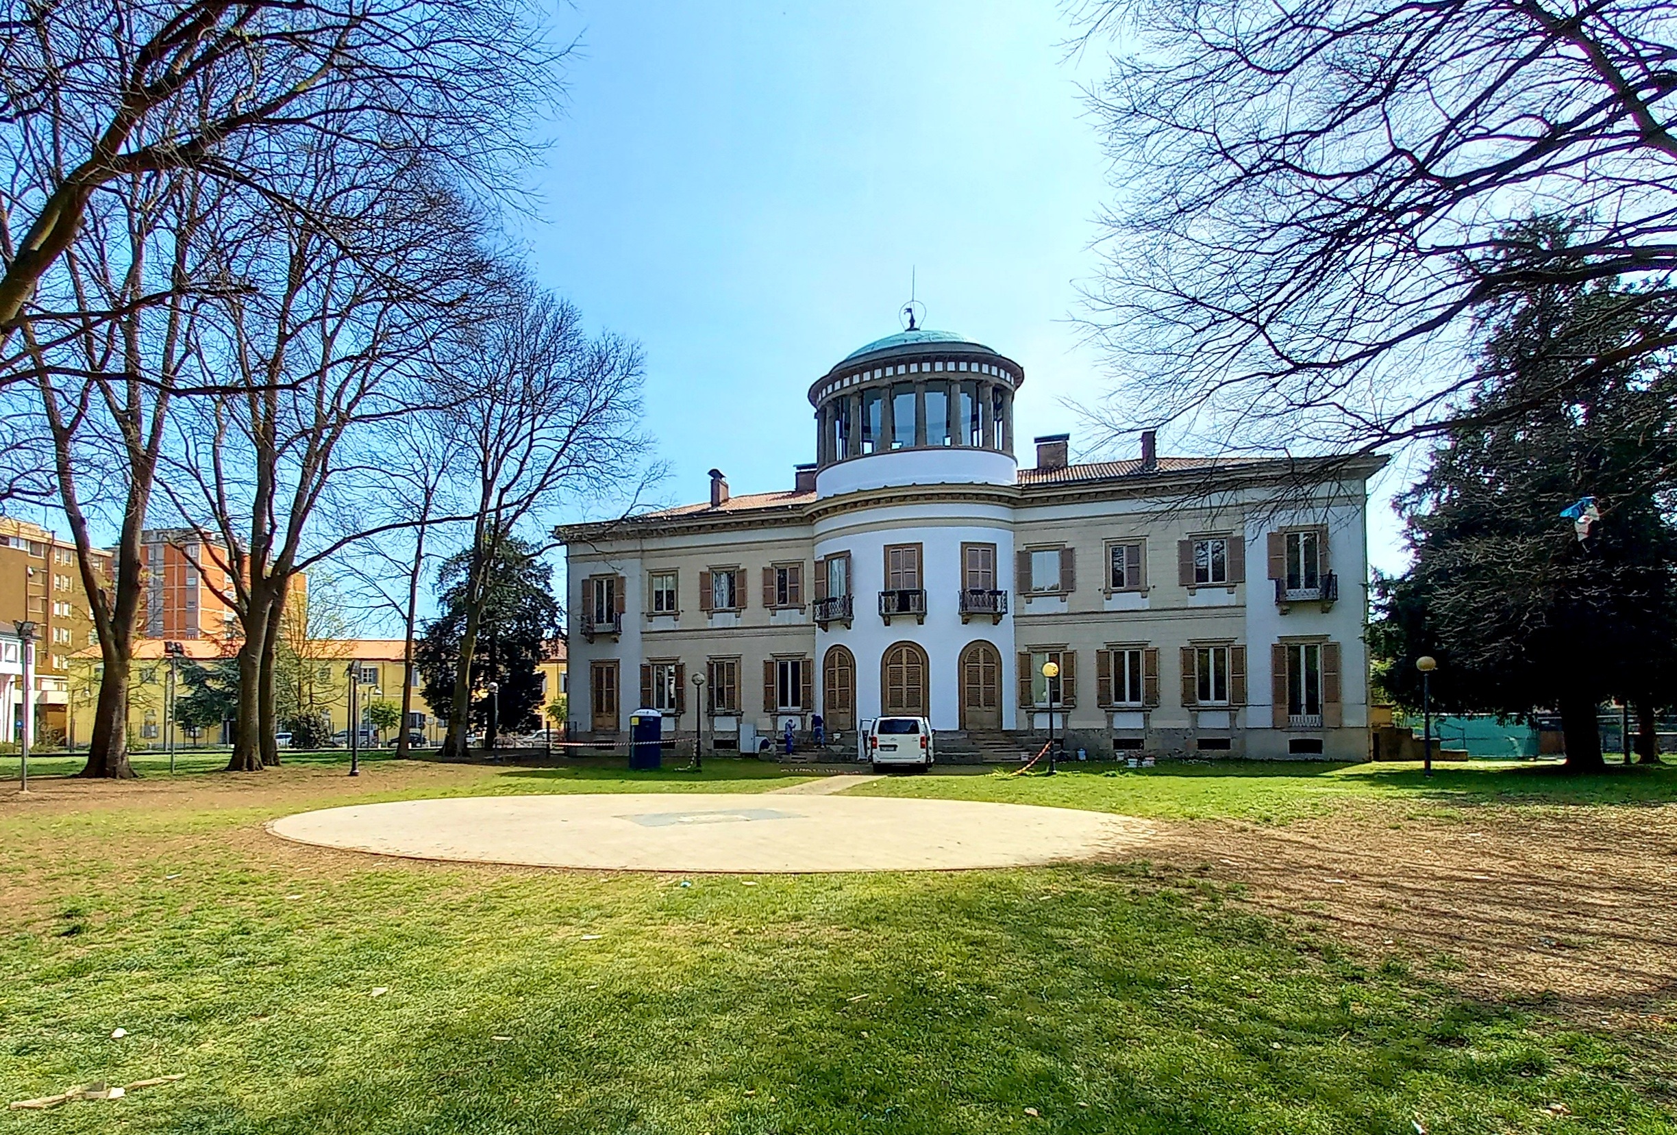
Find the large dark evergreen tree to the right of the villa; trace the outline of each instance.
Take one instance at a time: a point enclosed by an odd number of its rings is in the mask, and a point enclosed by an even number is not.
[[[1498,305],[1484,369],[1509,377],[1400,500],[1414,565],[1377,582],[1370,629],[1400,702],[1419,704],[1415,659],[1432,654],[1436,707],[1558,709],[1575,770],[1602,766],[1600,702],[1628,699],[1652,723],[1677,677],[1677,389],[1669,365],[1613,364],[1637,308],[1623,287]],[[1585,496],[1602,518],[1580,542],[1560,513]]]

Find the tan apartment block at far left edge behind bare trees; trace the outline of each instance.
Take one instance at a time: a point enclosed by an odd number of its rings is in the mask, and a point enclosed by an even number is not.
[[[96,570],[111,577],[111,557],[94,553]],[[30,662],[30,741],[65,736],[70,657],[97,647],[92,609],[75,565],[75,545],[50,528],[0,516],[0,741],[23,734],[22,642],[15,622],[35,624]]]

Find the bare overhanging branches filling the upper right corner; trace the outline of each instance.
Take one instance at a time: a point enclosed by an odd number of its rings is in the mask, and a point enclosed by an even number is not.
[[[1360,448],[1464,421],[1476,310],[1625,278],[1677,345],[1677,10],[1655,0],[1090,0],[1119,200],[1090,324],[1114,429]],[[1555,246],[1523,221],[1563,215]],[[1150,421],[1135,421],[1145,406]],[[1504,412],[1521,412],[1506,407]],[[1127,419],[1127,421],[1125,421]]]

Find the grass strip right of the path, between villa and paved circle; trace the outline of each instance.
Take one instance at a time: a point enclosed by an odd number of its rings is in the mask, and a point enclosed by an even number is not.
[[[1166,820],[1288,821],[1358,801],[1419,806],[1618,805],[1677,800],[1677,764],[1610,766],[1575,776],[1558,764],[1472,761],[1436,764],[1301,764],[1278,761],[1167,763],[1157,768],[1062,764],[1053,776],[1013,770],[981,776],[887,776],[852,790],[872,796],[942,796],[1095,808]]]

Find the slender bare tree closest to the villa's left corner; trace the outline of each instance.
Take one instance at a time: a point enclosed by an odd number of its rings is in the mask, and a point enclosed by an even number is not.
[[[515,288],[473,357],[444,379],[461,498],[473,510],[465,629],[443,756],[466,754],[471,661],[503,543],[565,493],[610,490],[639,468],[641,350],[589,337],[570,303]]]

